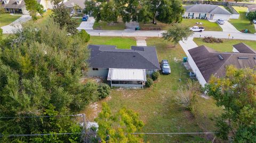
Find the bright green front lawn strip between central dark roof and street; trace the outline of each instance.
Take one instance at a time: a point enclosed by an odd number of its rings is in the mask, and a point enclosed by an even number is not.
[[[120,49],[130,49],[131,46],[136,46],[136,40],[129,37],[99,37],[91,36],[89,44],[95,45],[115,45]]]

